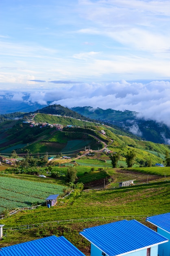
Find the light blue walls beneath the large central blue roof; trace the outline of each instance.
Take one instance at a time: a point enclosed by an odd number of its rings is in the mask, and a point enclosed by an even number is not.
[[[143,250],[140,250],[140,251],[137,251],[137,252],[132,252],[132,253],[129,252],[126,255],[127,256],[146,256],[147,255],[147,249],[143,249]],[[95,245],[91,244],[91,254],[90,254],[90,256],[102,256],[102,251],[100,249],[98,249]],[[107,256],[107,254],[106,254],[106,256]],[[158,245],[151,247],[150,256],[158,256]]]

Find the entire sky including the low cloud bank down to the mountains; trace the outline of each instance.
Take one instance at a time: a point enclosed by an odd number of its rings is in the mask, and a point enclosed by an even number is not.
[[[169,81],[169,0],[0,1],[0,97],[165,121]]]

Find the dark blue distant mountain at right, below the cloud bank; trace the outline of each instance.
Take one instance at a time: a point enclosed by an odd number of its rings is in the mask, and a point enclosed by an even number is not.
[[[132,132],[134,135],[142,137],[147,141],[155,143],[170,144],[170,128],[162,123],[156,123],[153,120],[146,121],[137,118],[137,113],[129,110],[119,111],[92,107],[75,107],[71,110],[80,115],[96,119],[100,122],[110,125],[116,125],[124,130]]]

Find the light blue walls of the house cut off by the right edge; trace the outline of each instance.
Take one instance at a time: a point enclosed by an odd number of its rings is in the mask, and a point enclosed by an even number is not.
[[[157,228],[157,233],[169,239],[169,242],[158,246],[159,256],[170,256],[170,234],[159,227]]]

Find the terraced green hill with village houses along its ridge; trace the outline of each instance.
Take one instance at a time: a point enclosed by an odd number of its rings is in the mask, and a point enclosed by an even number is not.
[[[130,112],[124,115],[126,118],[133,116]],[[15,113],[11,118],[14,116]],[[129,149],[135,149],[137,166],[143,166],[148,159],[152,159],[152,164],[163,163],[166,151],[170,152],[168,145],[141,140],[117,126],[85,120],[82,115],[60,105],[25,113],[23,118],[0,123],[1,154],[11,154],[15,150],[18,155],[29,152],[43,156],[48,152],[54,157],[59,154],[75,157],[85,149],[102,153],[104,148],[108,148],[110,152],[120,152],[119,166],[126,167],[125,156]],[[107,150],[103,154],[106,160],[109,159]]]

